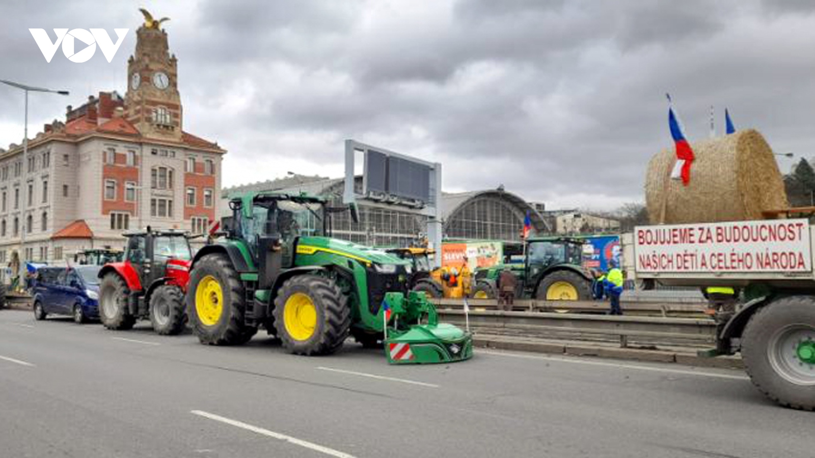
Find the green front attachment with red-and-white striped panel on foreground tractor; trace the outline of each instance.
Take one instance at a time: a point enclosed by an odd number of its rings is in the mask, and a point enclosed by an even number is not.
[[[392,312],[385,338],[388,363],[454,363],[473,357],[473,335],[452,324],[438,323],[436,308],[425,293],[411,292],[407,298],[402,293],[386,293],[385,304]]]

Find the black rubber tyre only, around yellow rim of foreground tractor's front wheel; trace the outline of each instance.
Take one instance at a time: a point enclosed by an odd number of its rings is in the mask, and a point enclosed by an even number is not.
[[[297,293],[309,297],[316,312],[314,332],[306,340],[292,337],[284,318],[289,297]],[[324,276],[305,274],[286,280],[277,293],[272,313],[283,348],[295,355],[330,355],[340,349],[350,332],[351,310],[347,297],[334,280]]]

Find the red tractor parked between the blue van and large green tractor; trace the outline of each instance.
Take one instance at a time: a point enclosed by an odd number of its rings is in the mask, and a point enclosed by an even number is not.
[[[137,319],[150,319],[153,330],[170,336],[187,321],[184,293],[192,251],[181,231],[127,232],[122,262],[99,271],[99,318],[108,329],[133,328]]]

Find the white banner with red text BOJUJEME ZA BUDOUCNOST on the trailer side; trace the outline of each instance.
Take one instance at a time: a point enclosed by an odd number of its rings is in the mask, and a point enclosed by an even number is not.
[[[634,228],[638,272],[812,271],[806,219]]]

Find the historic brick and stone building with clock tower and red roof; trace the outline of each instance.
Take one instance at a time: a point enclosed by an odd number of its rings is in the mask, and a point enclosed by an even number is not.
[[[178,60],[167,33],[144,25],[127,92],[91,95],[23,148],[0,149],[0,262],[56,261],[123,246],[139,227],[203,232],[214,221],[226,153],[183,130]],[[21,251],[24,233],[25,251]]]

